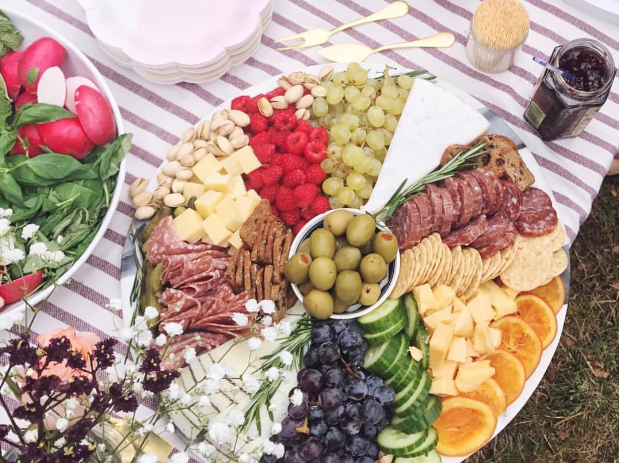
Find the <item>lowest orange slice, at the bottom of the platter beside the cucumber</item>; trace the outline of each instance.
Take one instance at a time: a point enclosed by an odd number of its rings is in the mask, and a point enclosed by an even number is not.
[[[492,437],[496,417],[489,405],[468,397],[443,400],[434,422],[438,433],[436,451],[446,457],[464,457],[482,448]]]

